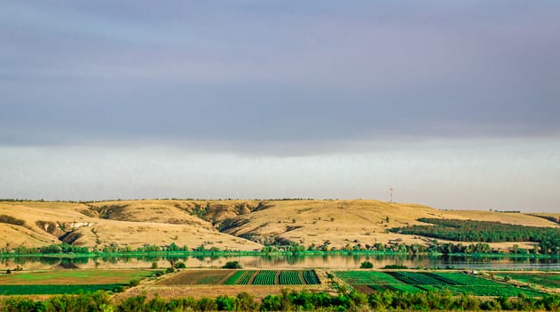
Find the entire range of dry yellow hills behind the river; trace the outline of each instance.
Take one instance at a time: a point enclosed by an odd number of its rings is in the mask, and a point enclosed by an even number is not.
[[[425,244],[415,235],[389,233],[418,218],[458,218],[524,226],[555,226],[555,214],[439,210],[385,201],[0,201],[0,247],[69,242],[102,248],[143,244],[260,250],[264,243],[297,242],[341,248],[354,244]],[[560,216],[556,216],[560,217]],[[250,238],[251,241],[245,238]],[[499,247],[507,247],[500,243]]]

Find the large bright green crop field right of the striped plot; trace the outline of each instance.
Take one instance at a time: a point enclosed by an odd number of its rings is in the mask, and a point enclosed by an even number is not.
[[[543,293],[509,283],[499,283],[460,272],[410,272],[410,271],[339,271],[336,275],[345,283],[361,291],[451,291],[475,296],[509,296],[520,293],[541,296]]]

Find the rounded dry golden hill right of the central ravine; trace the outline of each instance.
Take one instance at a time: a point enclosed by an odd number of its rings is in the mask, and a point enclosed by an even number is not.
[[[418,204],[385,201],[270,201],[263,209],[231,221],[225,233],[248,237],[256,242],[297,242],[348,247],[376,242],[426,244],[429,239],[387,233],[387,229],[421,224],[418,218],[456,218],[523,226],[558,226],[554,222],[522,213],[482,210],[438,210]],[[496,243],[505,248],[507,243]]]

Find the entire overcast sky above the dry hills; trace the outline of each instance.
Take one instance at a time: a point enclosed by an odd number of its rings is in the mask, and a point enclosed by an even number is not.
[[[0,1],[0,197],[560,212],[557,1]]]

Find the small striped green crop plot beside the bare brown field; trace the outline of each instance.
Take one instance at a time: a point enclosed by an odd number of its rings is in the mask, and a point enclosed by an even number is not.
[[[313,270],[239,270],[224,282],[226,285],[314,285],[319,283],[319,278]]]

